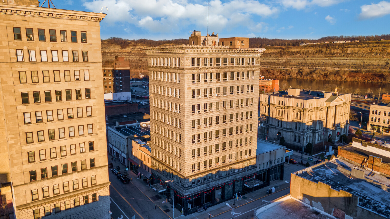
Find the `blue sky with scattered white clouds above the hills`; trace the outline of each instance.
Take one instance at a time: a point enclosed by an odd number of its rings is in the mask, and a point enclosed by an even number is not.
[[[42,2],[42,1],[41,1]],[[53,0],[59,9],[99,12],[101,38],[177,39],[207,32],[207,0]],[[224,37],[318,39],[389,34],[390,0],[210,0],[209,33]]]

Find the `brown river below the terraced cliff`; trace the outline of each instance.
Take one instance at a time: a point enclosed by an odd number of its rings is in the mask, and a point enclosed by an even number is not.
[[[272,78],[279,79],[279,88],[282,89],[282,83],[287,82],[287,87],[291,86],[292,88],[303,88],[309,90],[326,90],[325,87],[327,84],[335,85],[341,93],[342,90],[351,89],[351,93],[355,93],[356,88],[360,89],[360,94],[365,94],[367,89],[372,90],[372,95],[378,95],[379,88],[381,88],[381,94],[385,91],[386,93],[390,92],[389,83],[377,83],[377,82],[356,82],[356,81],[325,81],[325,80],[308,80],[308,79],[291,79],[291,78]],[[345,90],[344,90],[345,92]]]

